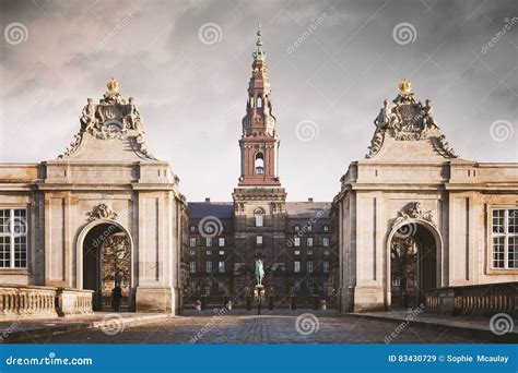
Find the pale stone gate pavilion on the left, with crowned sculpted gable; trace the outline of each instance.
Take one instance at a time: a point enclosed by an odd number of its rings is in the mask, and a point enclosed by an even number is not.
[[[56,160],[0,165],[0,284],[91,289],[96,310],[177,313],[186,202],[118,83]],[[63,296],[63,306],[70,293]]]

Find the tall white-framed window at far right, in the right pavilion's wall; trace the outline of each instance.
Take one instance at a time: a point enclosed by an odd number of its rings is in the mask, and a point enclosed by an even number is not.
[[[493,209],[491,224],[493,268],[518,268],[518,209]]]

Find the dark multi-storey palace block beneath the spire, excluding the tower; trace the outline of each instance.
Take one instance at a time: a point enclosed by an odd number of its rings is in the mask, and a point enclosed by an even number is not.
[[[232,202],[189,203],[186,303],[207,297],[210,304],[228,299],[243,306],[256,285],[254,263],[261,258],[264,297],[273,297],[275,306],[289,306],[291,296],[306,306],[313,296],[335,304],[339,263],[330,245],[330,203],[285,202],[279,212],[267,210],[270,203],[256,202],[249,213],[236,212]],[[258,208],[264,210],[262,226],[256,225]]]

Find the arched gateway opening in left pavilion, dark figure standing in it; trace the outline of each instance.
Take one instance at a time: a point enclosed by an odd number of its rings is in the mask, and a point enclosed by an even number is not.
[[[83,288],[94,290],[95,311],[131,311],[131,241],[120,226],[98,224],[84,237]]]

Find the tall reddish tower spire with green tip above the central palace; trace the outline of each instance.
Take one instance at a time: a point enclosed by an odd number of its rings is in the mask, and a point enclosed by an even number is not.
[[[262,50],[262,33],[257,32],[257,49],[252,53],[246,116],[243,118],[242,176],[239,185],[280,185],[279,139],[272,113],[270,80]]]

